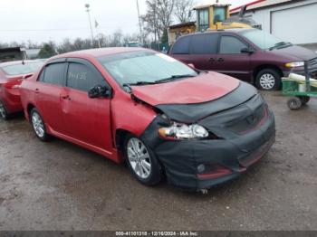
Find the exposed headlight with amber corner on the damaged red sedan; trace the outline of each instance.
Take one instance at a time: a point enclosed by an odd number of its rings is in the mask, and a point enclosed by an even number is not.
[[[159,128],[159,135],[169,139],[194,139],[208,137],[208,132],[197,124],[186,125],[174,122],[168,128]]]

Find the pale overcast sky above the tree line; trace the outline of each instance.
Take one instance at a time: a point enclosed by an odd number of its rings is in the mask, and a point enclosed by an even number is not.
[[[252,0],[220,0],[232,6]],[[139,0],[140,14],[145,13],[146,0]],[[197,5],[214,3],[196,0]],[[84,5],[91,5],[91,20],[100,24],[100,33],[138,32],[136,0],[0,0],[0,43],[90,37],[88,16]]]

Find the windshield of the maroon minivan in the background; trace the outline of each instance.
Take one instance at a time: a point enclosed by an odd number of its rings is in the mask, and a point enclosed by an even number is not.
[[[265,33],[264,31],[261,30],[248,30],[248,31],[243,31],[241,32],[245,38],[247,38],[249,41],[252,43],[255,43],[256,46],[263,50],[269,50],[273,49],[275,46],[290,46],[292,44],[290,43],[285,43],[282,40],[276,38],[273,34],[271,33]]]

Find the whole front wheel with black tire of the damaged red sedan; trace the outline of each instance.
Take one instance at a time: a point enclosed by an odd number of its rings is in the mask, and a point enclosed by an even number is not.
[[[162,179],[162,167],[154,153],[139,137],[126,137],[124,154],[131,174],[142,185],[159,184]]]

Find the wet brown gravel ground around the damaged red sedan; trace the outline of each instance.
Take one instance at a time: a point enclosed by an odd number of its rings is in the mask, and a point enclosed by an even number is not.
[[[317,100],[290,111],[264,97],[274,147],[206,195],[140,185],[102,156],[40,142],[23,118],[0,121],[0,230],[317,230]]]

